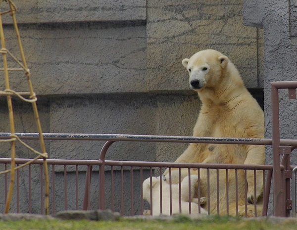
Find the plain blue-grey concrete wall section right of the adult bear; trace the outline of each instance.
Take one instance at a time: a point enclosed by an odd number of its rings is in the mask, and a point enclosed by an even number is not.
[[[265,137],[272,137],[270,82],[296,81],[297,76],[297,6],[294,1],[244,0],[244,24],[264,31],[264,112]],[[289,100],[288,90],[280,92],[280,137],[296,139],[296,100]],[[272,164],[271,147],[266,148],[266,164]],[[296,150],[291,164],[297,165]],[[271,191],[272,192],[272,191]],[[272,213],[270,200],[270,214]]]

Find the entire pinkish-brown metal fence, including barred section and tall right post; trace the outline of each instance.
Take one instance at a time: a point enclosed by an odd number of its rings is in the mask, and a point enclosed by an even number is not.
[[[119,211],[122,215],[142,215],[144,206],[152,211],[152,207],[149,207],[147,203],[143,201],[142,197],[142,182],[147,177],[153,175],[161,175],[161,172],[165,168],[188,168],[188,169],[206,169],[216,170],[219,174],[219,170],[225,170],[226,177],[230,170],[244,172],[245,178],[247,170],[253,170],[254,175],[256,172],[261,171],[263,178],[263,210],[262,213],[257,212],[256,202],[253,204],[255,209],[255,215],[266,215],[268,207],[268,198],[271,184],[271,175],[273,175],[273,210],[275,216],[290,216],[292,208],[292,199],[290,194],[290,179],[292,178],[293,166],[290,166],[290,154],[292,150],[297,146],[297,140],[295,139],[280,139],[279,136],[279,115],[278,115],[278,89],[289,89],[289,98],[293,99],[296,97],[297,82],[277,82],[271,83],[272,92],[272,128],[273,136],[272,139],[259,139],[259,138],[205,138],[205,137],[171,137],[171,136],[144,136],[144,135],[96,135],[96,134],[44,134],[44,139],[51,140],[107,140],[102,151],[100,153],[99,160],[48,160],[48,164],[51,165],[51,210],[54,214],[58,210],[67,209],[90,209],[90,208],[110,208],[112,211]],[[9,133],[0,133],[0,138],[8,138]],[[22,139],[38,139],[38,134],[16,134]],[[235,165],[235,164],[181,164],[181,163],[168,163],[168,162],[137,162],[137,161],[109,161],[105,160],[105,154],[109,146],[115,141],[154,141],[154,142],[187,142],[187,143],[216,143],[216,144],[259,144],[259,145],[272,145],[273,147],[273,166],[270,165]],[[282,159],[280,158],[282,155]],[[16,164],[22,164],[28,161],[28,159],[16,159]],[[10,163],[10,159],[0,159],[0,165],[3,165],[3,169],[9,168],[7,165]],[[32,165],[28,166],[28,173],[25,175],[22,171],[17,171],[16,178],[16,191],[15,191],[15,212],[40,212],[43,213],[43,175],[42,170],[39,172],[39,179],[37,180],[36,172],[32,175],[32,168],[39,166],[42,169],[42,161],[37,160]],[[58,169],[62,165],[63,169]],[[75,167],[75,169],[73,168]],[[84,169],[79,169],[84,167]],[[94,169],[97,167],[97,169]],[[69,170],[70,168],[70,170]],[[27,170],[27,169],[22,169]],[[136,173],[137,171],[137,173]],[[82,175],[83,172],[83,175]],[[86,172],[86,173],[85,173]],[[108,180],[105,180],[107,172],[110,174]],[[119,184],[115,184],[116,175],[120,172]],[[94,175],[94,173],[98,175]],[[129,173],[129,176],[128,174]],[[134,180],[135,175],[138,174],[139,178]],[[25,175],[25,176],[24,176]],[[72,175],[74,178],[69,185],[69,176]],[[75,175],[75,176],[74,176]],[[93,176],[92,176],[93,175]],[[4,180],[1,179],[2,193],[6,194],[7,187],[7,176]],[[59,180],[56,178],[60,177]],[[63,177],[63,180],[61,179]],[[129,177],[130,182],[124,182]],[[85,180],[81,180],[84,178]],[[219,183],[219,177],[217,177],[217,183]],[[256,184],[256,177],[254,176]],[[27,181],[24,181],[27,180]],[[22,181],[22,182],[20,182]],[[63,181],[63,184],[60,182]],[[84,181],[81,184],[81,181]],[[228,180],[227,180],[228,181]],[[32,188],[32,183],[39,184],[39,198],[36,193],[36,188]],[[39,182],[39,183],[38,183]],[[107,192],[107,184],[108,189]],[[22,197],[21,190],[22,186],[25,185],[25,204],[22,204],[20,197]],[[75,186],[73,185],[75,184]],[[129,188],[127,187],[129,184]],[[74,186],[74,187],[73,187]],[[92,187],[93,186],[93,187]],[[84,191],[81,192],[81,188],[84,187]],[[226,186],[228,194],[228,184]],[[135,192],[135,188],[139,188]],[[73,190],[72,195],[70,190]],[[209,189],[209,187],[208,187]],[[129,190],[129,195],[126,191]],[[245,215],[247,216],[247,184],[245,184]],[[218,191],[217,191],[218,192]],[[219,193],[219,192],[218,192]],[[75,202],[69,197],[75,196]],[[116,194],[116,195],[115,195]],[[138,195],[139,197],[138,197]],[[209,190],[208,190],[209,194]],[[256,191],[254,197],[256,197]],[[296,194],[293,194],[296,195]],[[110,196],[110,197],[107,197]],[[5,196],[3,199],[6,199]],[[127,198],[130,197],[130,198]],[[219,199],[219,194],[218,194]],[[209,202],[209,197],[207,197]],[[128,200],[130,199],[130,202]],[[35,208],[36,200],[39,200],[40,208]],[[63,200],[63,201],[62,201]],[[129,204],[128,204],[128,203]],[[226,212],[229,213],[228,196],[226,199]],[[0,204],[4,201],[0,200]],[[63,204],[63,205],[62,205]],[[209,204],[209,203],[208,203]],[[221,213],[220,203],[217,203],[218,207],[216,212]],[[27,208],[23,208],[24,206]],[[38,205],[37,205],[38,206]],[[57,207],[58,206],[58,207]],[[63,206],[63,207],[61,207]],[[71,207],[69,207],[71,206]],[[209,205],[208,205],[209,207]],[[127,209],[128,208],[128,209]],[[128,212],[127,212],[128,210]],[[207,210],[208,213],[211,210]],[[162,207],[160,212],[162,212]],[[239,214],[238,206],[236,207],[236,214]]]

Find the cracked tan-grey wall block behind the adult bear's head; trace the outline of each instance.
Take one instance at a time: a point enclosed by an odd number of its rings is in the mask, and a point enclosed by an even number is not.
[[[245,27],[242,2],[148,1],[147,85],[151,90],[189,89],[181,61],[213,48],[238,67],[248,88],[260,87],[255,28]]]

